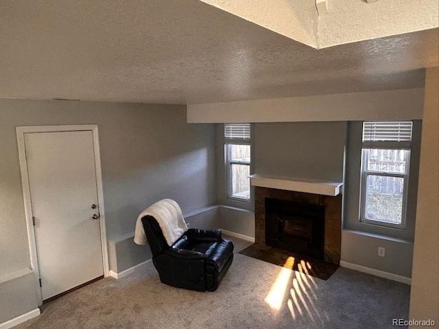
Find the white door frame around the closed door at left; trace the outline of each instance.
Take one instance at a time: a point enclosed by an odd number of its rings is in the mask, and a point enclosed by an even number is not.
[[[32,200],[29,185],[29,173],[27,172],[25,134],[38,132],[79,132],[91,131],[93,134],[93,151],[95,154],[95,173],[96,173],[96,189],[97,202],[99,204],[99,228],[101,235],[102,247],[102,265],[104,267],[104,276],[109,275],[108,265],[108,247],[106,238],[106,224],[104,211],[104,188],[102,186],[102,170],[101,156],[99,151],[99,134],[97,125],[40,125],[40,126],[20,126],[16,127],[16,138],[19,147],[19,161],[21,171],[21,184],[23,187],[23,199],[25,205],[25,218],[27,225],[27,237],[29,242],[29,253],[31,269],[35,273],[35,287],[38,305],[43,304],[43,295],[40,288],[40,270],[38,267],[38,256],[36,251],[35,230],[32,221]]]

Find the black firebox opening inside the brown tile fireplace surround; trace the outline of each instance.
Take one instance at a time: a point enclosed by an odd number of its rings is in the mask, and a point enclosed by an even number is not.
[[[324,206],[265,198],[265,243],[323,259]]]

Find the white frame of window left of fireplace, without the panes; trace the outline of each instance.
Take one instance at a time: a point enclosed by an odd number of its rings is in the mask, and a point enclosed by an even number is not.
[[[249,125],[250,123],[243,123],[245,125]],[[224,132],[226,131],[226,126],[228,123],[224,123]],[[251,127],[251,126],[250,126]],[[251,131],[251,130],[250,130]],[[232,160],[231,159],[231,147],[230,145],[248,145],[250,147],[250,158],[248,161],[239,161],[239,160]],[[225,164],[225,171],[226,171],[226,199],[230,199],[237,202],[251,202],[251,191],[248,197],[239,197],[236,195],[233,195],[232,188],[233,188],[233,175],[232,175],[232,165],[233,164],[243,164],[248,166],[248,172],[251,173],[251,163],[252,163],[252,157],[251,157],[251,135],[250,138],[245,138],[244,136],[242,138],[227,138],[226,134],[224,133],[224,164]],[[250,184],[250,182],[249,182]],[[251,189],[251,185],[249,186]]]

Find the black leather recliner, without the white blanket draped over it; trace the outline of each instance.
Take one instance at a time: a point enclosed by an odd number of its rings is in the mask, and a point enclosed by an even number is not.
[[[156,219],[142,218],[152,261],[161,282],[173,287],[215,291],[233,260],[233,243],[220,230],[189,228],[169,247]]]

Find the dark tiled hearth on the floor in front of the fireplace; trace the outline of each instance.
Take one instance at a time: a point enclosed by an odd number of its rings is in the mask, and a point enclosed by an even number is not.
[[[338,269],[337,265],[324,262],[323,260],[294,254],[287,250],[268,247],[267,245],[258,245],[257,243],[242,249],[239,254],[294,269],[294,271],[306,273],[322,280],[328,280]]]

